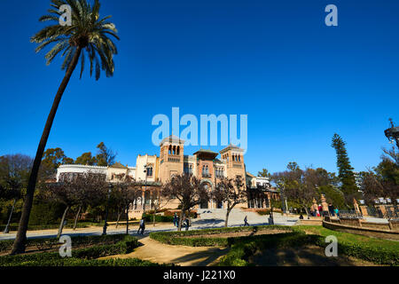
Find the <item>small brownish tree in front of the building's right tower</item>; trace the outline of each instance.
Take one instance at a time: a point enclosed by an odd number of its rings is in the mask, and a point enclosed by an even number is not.
[[[246,186],[242,177],[237,176],[235,179],[222,177],[216,184],[215,190],[212,192],[212,197],[217,203],[226,203],[227,211],[224,226],[227,227],[231,210],[237,204],[245,202],[247,199]]]

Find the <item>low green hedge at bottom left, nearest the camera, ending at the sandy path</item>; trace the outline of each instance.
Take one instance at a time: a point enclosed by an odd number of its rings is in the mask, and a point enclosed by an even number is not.
[[[138,247],[137,238],[124,235],[121,241],[109,245],[74,249],[72,257],[61,257],[59,252],[44,252],[31,255],[0,256],[0,266],[69,266],[69,265],[119,265],[118,261],[95,260],[102,256],[127,254]],[[93,261],[90,261],[93,260]],[[129,264],[129,262],[127,262]],[[130,264],[138,264],[133,261]]]

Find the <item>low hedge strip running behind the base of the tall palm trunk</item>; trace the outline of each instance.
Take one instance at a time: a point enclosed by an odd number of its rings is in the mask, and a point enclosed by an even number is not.
[[[90,246],[94,244],[113,244],[115,242],[124,240],[125,236],[125,234],[107,234],[98,236],[72,236],[71,239],[73,246]],[[14,240],[0,241],[0,252],[12,249],[13,243]],[[57,238],[27,239],[27,247],[36,246],[40,250],[59,245],[59,239]]]

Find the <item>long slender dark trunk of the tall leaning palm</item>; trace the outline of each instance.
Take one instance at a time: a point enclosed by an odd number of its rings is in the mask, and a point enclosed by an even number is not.
[[[59,102],[61,101],[62,95],[66,90],[66,86],[69,83],[72,74],[74,73],[74,68],[78,64],[81,52],[82,52],[82,47],[78,46],[74,53],[74,58],[71,61],[71,65],[66,70],[66,75],[64,76],[64,79],[59,85],[59,91],[57,91],[54,102],[52,103],[51,106],[50,114],[47,117],[47,122],[44,125],[42,138],[40,139],[39,146],[37,147],[35,161],[33,163],[32,171],[30,173],[29,180],[27,183],[27,194],[25,196],[25,201],[22,208],[22,214],[20,217],[20,225],[18,226],[18,233],[12,247],[11,255],[17,255],[25,252],[25,245],[27,241],[27,224],[29,223],[30,211],[32,209],[32,204],[34,200],[37,174],[39,173],[40,163],[42,162],[44,148],[46,147],[47,139],[49,138],[50,135],[52,122],[54,121],[55,114],[57,113],[57,109],[59,108]]]

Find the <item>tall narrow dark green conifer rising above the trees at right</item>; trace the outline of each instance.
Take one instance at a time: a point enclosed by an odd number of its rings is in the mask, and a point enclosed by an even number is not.
[[[344,194],[346,205],[353,207],[353,199],[359,197],[359,188],[356,185],[353,168],[350,165],[346,143],[340,135],[334,134],[332,137],[332,147],[337,154],[338,177],[340,177],[340,191]]]

